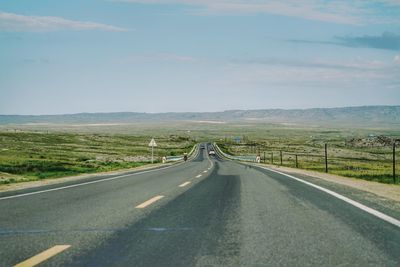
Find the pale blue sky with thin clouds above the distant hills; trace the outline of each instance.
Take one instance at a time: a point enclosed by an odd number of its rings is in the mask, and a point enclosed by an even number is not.
[[[0,2],[0,114],[399,104],[398,0]]]

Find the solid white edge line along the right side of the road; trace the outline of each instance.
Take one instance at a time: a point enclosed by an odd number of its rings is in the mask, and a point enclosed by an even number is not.
[[[393,225],[395,225],[397,227],[400,227],[400,221],[399,220],[397,220],[397,219],[395,219],[393,217],[390,217],[389,215],[386,215],[386,214],[384,214],[384,213],[382,213],[380,211],[374,210],[374,209],[372,209],[372,208],[370,208],[368,206],[365,206],[365,205],[363,205],[363,204],[361,204],[361,203],[359,203],[357,201],[354,201],[354,200],[352,200],[352,199],[350,199],[348,197],[345,197],[345,196],[343,196],[341,194],[338,194],[338,193],[336,193],[336,192],[334,192],[332,190],[329,190],[329,189],[326,189],[326,188],[324,188],[322,186],[315,185],[313,183],[304,181],[304,180],[302,180],[300,178],[297,178],[297,177],[294,177],[294,176],[292,176],[290,174],[286,174],[286,173],[283,173],[283,172],[280,172],[280,171],[271,170],[271,169],[268,169],[268,168],[265,168],[265,167],[261,167],[261,168],[269,170],[269,171],[272,171],[272,172],[275,172],[275,173],[278,173],[278,174],[281,174],[281,175],[284,175],[284,176],[289,177],[291,179],[294,179],[294,180],[296,180],[298,182],[301,182],[301,183],[304,183],[306,185],[312,186],[312,187],[314,187],[314,188],[316,188],[318,190],[321,190],[321,191],[323,191],[323,192],[325,192],[325,193],[327,193],[327,194],[329,194],[331,196],[334,196],[334,197],[336,197],[338,199],[341,199],[341,200],[349,203],[350,205],[353,205],[354,207],[357,207],[357,208],[359,208],[359,209],[361,209],[361,210],[363,210],[365,212],[368,212],[369,214],[374,215],[374,216],[376,216],[376,217],[378,217],[378,218],[380,218],[380,219],[382,219],[382,220],[384,220],[384,221],[386,221],[388,223],[391,223],[391,224],[393,224]]]

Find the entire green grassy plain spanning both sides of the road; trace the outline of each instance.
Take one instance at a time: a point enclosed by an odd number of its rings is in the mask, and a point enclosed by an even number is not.
[[[147,164],[148,142],[158,143],[156,157],[180,155],[193,144],[215,141],[227,153],[261,157],[266,163],[325,171],[324,144],[328,144],[329,172],[347,177],[392,183],[392,147],[377,136],[400,139],[400,129],[322,128],[259,122],[168,122],[113,125],[31,124],[0,126],[2,183],[55,178],[130,168]],[[240,142],[234,141],[239,137]],[[400,159],[400,144],[397,158]],[[400,164],[397,161],[397,172]],[[19,178],[15,178],[17,175]],[[22,178],[21,178],[22,177]],[[14,180],[13,180],[14,179]],[[397,176],[399,183],[400,175]]]

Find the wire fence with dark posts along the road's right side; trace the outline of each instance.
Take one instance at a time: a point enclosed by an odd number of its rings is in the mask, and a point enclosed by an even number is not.
[[[329,144],[313,148],[311,152],[288,151],[267,147],[250,148],[232,153],[235,147],[218,144],[224,156],[231,159],[271,164],[291,168],[327,172],[341,176],[361,178],[384,183],[399,183],[398,145],[371,149],[343,150]],[[293,148],[291,148],[293,149]],[[244,153],[243,153],[244,152]]]

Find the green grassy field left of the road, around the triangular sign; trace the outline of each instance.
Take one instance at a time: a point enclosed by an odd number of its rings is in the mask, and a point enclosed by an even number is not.
[[[0,132],[0,184],[138,167],[151,160],[148,136],[73,132]],[[155,161],[182,155],[188,137],[155,136]]]

